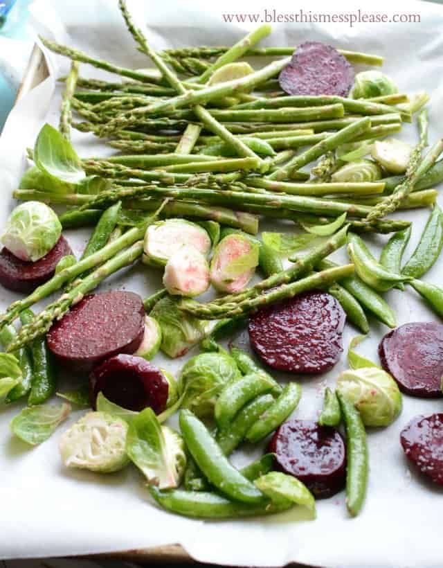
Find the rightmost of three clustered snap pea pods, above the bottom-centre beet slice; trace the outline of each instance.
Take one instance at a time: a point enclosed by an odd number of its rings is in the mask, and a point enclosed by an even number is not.
[[[300,384],[290,382],[284,387],[282,393],[275,402],[260,416],[257,422],[249,429],[246,440],[256,443],[266,438],[273,430],[278,428],[296,409],[302,389]]]

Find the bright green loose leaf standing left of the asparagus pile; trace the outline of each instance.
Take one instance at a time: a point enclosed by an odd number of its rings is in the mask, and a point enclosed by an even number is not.
[[[71,184],[77,184],[86,177],[71,143],[48,124],[42,127],[35,141],[34,161],[39,170]]]

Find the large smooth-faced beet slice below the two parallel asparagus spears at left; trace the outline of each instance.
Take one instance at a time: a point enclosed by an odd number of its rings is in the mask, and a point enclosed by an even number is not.
[[[144,316],[141,297],[134,292],[90,294],[54,323],[48,346],[69,369],[91,371],[107,357],[137,350]]]

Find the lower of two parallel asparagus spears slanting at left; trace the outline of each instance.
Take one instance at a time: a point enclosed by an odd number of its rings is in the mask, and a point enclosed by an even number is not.
[[[96,288],[110,274],[114,274],[120,268],[132,265],[137,258],[143,254],[143,240],[139,240],[125,251],[116,254],[114,258],[107,260],[94,272],[82,278],[82,280],[69,292],[65,292],[55,302],[34,317],[33,321],[23,326],[19,330],[15,340],[8,346],[9,350],[14,350],[33,341],[36,337],[44,335],[52,326],[55,319],[61,319],[64,314],[76,303],[80,302],[84,295]]]

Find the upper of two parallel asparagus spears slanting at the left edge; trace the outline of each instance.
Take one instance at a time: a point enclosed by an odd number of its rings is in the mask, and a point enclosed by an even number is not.
[[[6,310],[6,313],[0,316],[0,329],[3,328],[3,326],[6,326],[8,323],[15,321],[15,319],[19,317],[20,312],[26,310],[26,308],[30,308],[31,305],[34,305],[35,303],[43,300],[44,298],[46,298],[46,296],[49,296],[49,294],[52,294],[56,290],[60,290],[60,288],[66,282],[73,280],[86,270],[95,268],[98,265],[105,263],[107,260],[109,260],[109,258],[114,258],[116,254],[118,254],[125,247],[134,245],[134,242],[143,238],[143,236],[145,235],[145,230],[146,227],[134,227],[134,229],[129,229],[129,231],[124,233],[120,238],[109,243],[100,251],[91,254],[91,256],[88,256],[87,258],[80,260],[78,263],[75,263],[75,265],[66,267],[58,274],[55,274],[55,276],[53,276],[51,280],[48,280],[46,283],[37,287],[34,292],[29,294],[29,296],[27,296],[26,298],[12,303]]]

